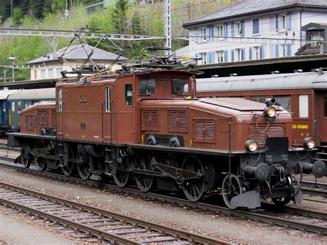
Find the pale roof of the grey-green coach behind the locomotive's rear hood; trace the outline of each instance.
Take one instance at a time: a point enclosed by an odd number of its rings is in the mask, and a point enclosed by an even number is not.
[[[55,88],[26,89],[13,92],[8,99],[54,99],[55,94]]]

